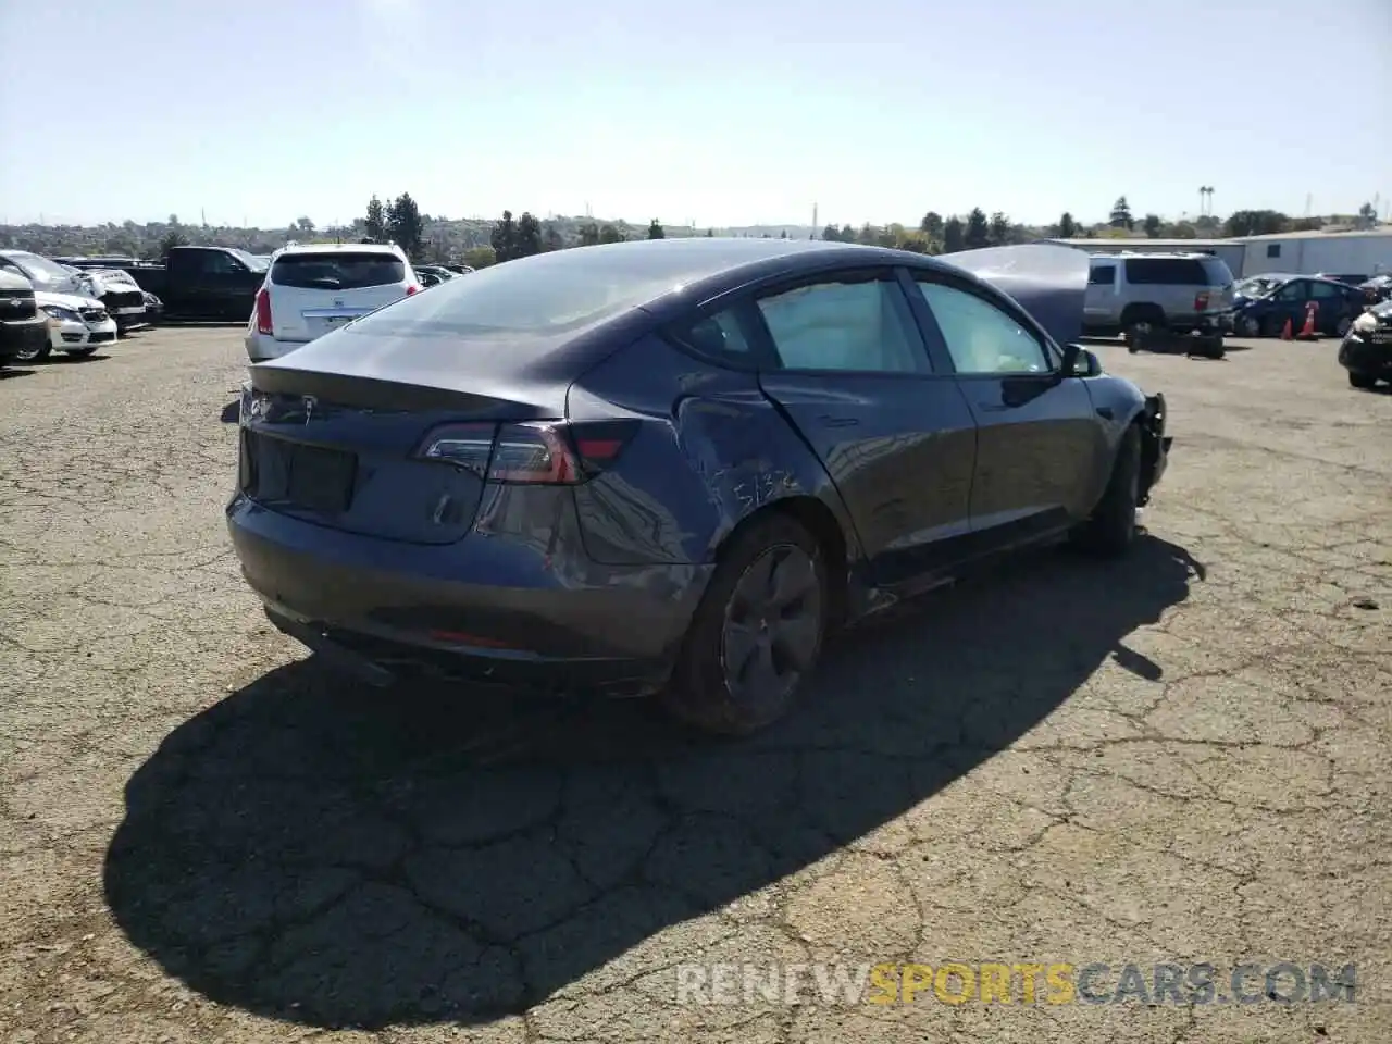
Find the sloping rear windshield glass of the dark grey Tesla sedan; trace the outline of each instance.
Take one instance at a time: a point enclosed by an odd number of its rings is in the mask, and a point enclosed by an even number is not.
[[[539,253],[432,287],[345,329],[391,337],[555,335],[583,330],[729,267],[715,251]]]

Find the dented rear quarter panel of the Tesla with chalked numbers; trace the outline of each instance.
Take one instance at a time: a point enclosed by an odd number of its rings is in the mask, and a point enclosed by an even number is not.
[[[848,561],[859,558],[825,469],[752,373],[647,335],[576,381],[567,416],[643,422],[618,464],[575,490],[586,550],[597,562],[710,562],[745,518],[786,497],[825,504],[846,537]]]

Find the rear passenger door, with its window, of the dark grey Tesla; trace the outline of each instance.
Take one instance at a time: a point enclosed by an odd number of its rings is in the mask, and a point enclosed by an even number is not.
[[[892,267],[766,288],[759,383],[841,493],[880,586],[912,590],[970,533],[976,423]]]

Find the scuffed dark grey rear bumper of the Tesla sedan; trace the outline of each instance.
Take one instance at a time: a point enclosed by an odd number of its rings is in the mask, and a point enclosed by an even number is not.
[[[651,692],[714,568],[599,565],[565,541],[521,547],[479,533],[443,546],[387,541],[278,515],[242,494],[227,516],[242,575],[271,621],[376,683],[427,675]]]

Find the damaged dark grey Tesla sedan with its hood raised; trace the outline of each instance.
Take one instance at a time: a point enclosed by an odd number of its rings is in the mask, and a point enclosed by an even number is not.
[[[841,624],[1005,548],[1132,546],[1165,402],[1073,342],[1086,284],[1045,245],[489,267],[251,367],[231,540],[276,626],[373,683],[661,692],[748,732]]]

